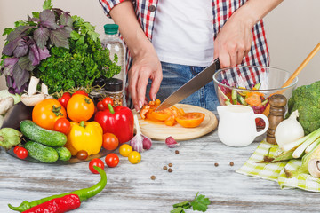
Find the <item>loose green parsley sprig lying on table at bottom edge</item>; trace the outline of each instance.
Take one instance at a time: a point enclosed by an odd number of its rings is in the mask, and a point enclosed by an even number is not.
[[[208,209],[208,205],[210,204],[209,198],[205,198],[204,195],[196,193],[196,197],[193,201],[183,201],[180,203],[176,203],[173,205],[173,210],[170,213],[185,213],[185,209],[190,209],[192,207],[193,210],[203,211],[205,212]]]

